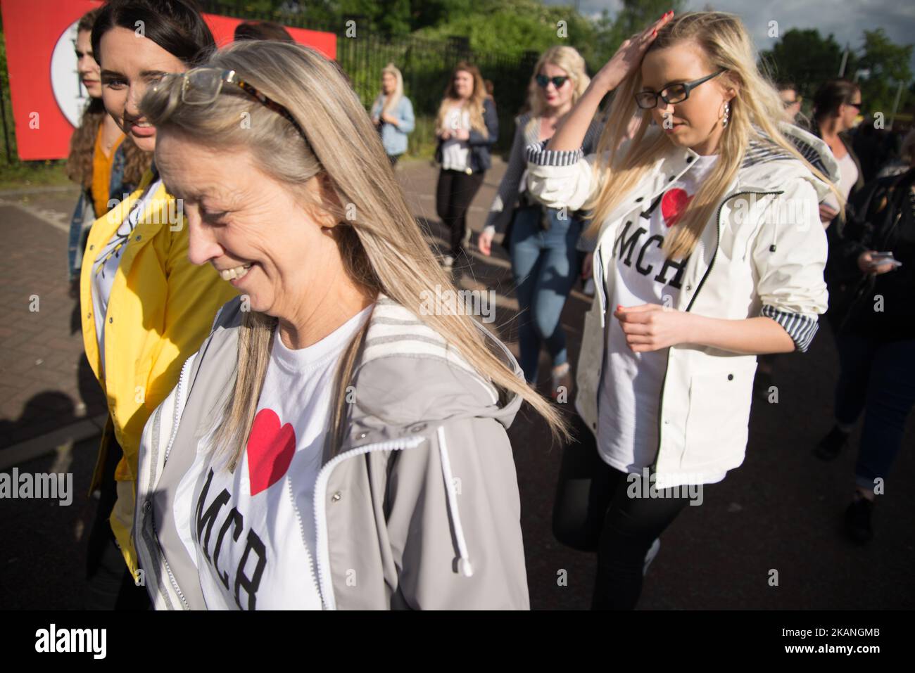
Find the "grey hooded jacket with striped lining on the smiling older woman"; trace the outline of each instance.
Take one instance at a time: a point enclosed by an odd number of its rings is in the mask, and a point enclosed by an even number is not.
[[[236,298],[221,309],[145,426],[134,541],[157,609],[206,608],[173,505],[231,388],[240,306]],[[318,549],[310,550],[313,567],[303,572],[313,572],[325,609],[529,609],[506,434],[522,399],[500,401],[400,304],[380,297],[369,320],[348,390],[347,439],[322,459],[314,499]],[[489,338],[521,377],[511,353]],[[192,521],[194,535],[206,533],[208,522]],[[243,583],[234,590],[244,592]]]

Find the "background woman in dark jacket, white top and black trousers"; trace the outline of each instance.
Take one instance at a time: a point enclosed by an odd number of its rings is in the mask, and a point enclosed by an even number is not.
[[[454,69],[436,115],[436,212],[450,233],[442,265],[450,270],[468,244],[467,210],[492,165],[490,148],[499,138],[495,104],[487,97],[477,66]]]

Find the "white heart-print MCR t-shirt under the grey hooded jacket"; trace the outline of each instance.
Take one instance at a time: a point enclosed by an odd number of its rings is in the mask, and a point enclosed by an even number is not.
[[[178,534],[210,610],[320,610],[313,497],[340,355],[371,306],[317,344],[274,336],[264,388],[234,474],[208,450],[175,495]]]

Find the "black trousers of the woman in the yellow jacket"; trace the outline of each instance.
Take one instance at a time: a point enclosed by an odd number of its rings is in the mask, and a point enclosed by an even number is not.
[[[114,469],[124,452],[112,440],[105,457],[102,475],[102,497],[89,533],[89,550],[86,554],[86,610],[148,610],[149,594],[144,586],[136,586],[127,569],[124,555],[114,540],[108,518],[111,517],[117,491]]]

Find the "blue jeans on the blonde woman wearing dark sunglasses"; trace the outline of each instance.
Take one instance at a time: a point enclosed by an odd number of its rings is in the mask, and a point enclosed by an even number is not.
[[[568,360],[559,316],[578,275],[576,242],[582,221],[571,215],[559,219],[560,211],[553,208],[544,208],[544,212],[550,220],[549,230],[540,227],[539,208],[520,210],[511,228],[511,274],[521,311],[520,364],[529,383],[537,380],[541,344],[554,367]]]

